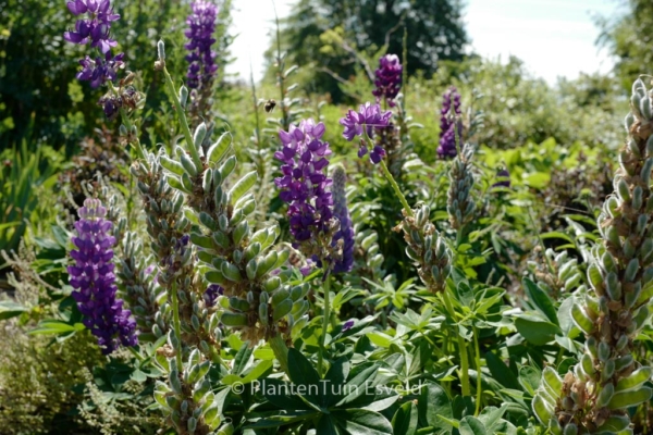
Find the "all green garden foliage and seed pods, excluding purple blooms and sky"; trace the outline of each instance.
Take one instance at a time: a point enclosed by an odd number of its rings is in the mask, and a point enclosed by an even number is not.
[[[600,23],[614,72],[552,86],[465,55],[455,0],[300,0],[264,79],[229,80],[226,0],[218,71],[189,95],[190,5],[112,4],[126,67],[93,89],[65,2],[0,0],[0,433],[653,433],[646,2]],[[341,120],[374,102],[387,53],[407,65],[396,105],[380,101],[392,126],[348,141]],[[132,89],[103,116],[100,97]],[[310,136],[309,117],[348,204],[343,273],[345,220],[298,241],[274,182],[279,132]],[[87,198],[139,334],[110,355],[67,269]]]

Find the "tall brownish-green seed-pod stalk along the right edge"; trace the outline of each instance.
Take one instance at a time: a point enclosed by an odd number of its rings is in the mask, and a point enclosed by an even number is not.
[[[592,250],[591,289],[571,314],[586,334],[580,362],[563,380],[543,373],[533,410],[556,434],[632,434],[628,408],[651,398],[653,369],[633,359],[632,340],[649,321],[653,296],[653,108],[641,79],[626,116],[614,195],[596,220],[603,244]]]

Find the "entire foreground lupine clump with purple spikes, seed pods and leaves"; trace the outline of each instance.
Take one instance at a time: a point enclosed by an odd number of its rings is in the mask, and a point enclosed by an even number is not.
[[[328,123],[291,110],[279,45],[274,135],[252,80],[256,152],[238,152],[208,120],[218,7],[193,2],[187,58],[167,58],[163,41],[151,53],[180,136],[146,146],[127,58],[112,53],[120,17],[109,0],[67,9],[78,20],[65,40],[96,51],[77,78],[106,87],[104,115],[135,151],[131,186],[85,187],[79,219],[38,239],[40,258],[5,256],[58,303],[0,301],[0,319],[35,320],[29,333],[59,344],[88,330],[106,364],[88,368],[79,415],[133,400],[147,405],[131,421],[184,435],[651,432],[642,79],[614,194],[597,216],[541,234],[516,212],[537,210],[532,186],[512,159],[489,163],[455,88],[432,113],[440,159],[426,167],[414,153],[398,55],[380,59],[370,101]],[[176,62],[189,62],[185,77],[170,74]]]

